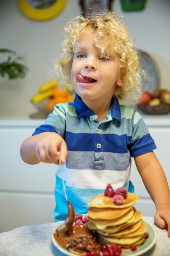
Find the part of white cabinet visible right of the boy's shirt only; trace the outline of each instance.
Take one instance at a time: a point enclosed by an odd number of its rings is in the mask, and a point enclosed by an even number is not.
[[[144,120],[157,146],[157,148],[154,150],[154,153],[160,161],[160,164],[163,166],[170,187],[170,118],[169,115],[165,116],[165,120],[162,119],[162,117],[160,119],[159,116],[157,117],[157,120],[155,120],[155,118],[156,117],[152,117],[151,120],[145,120],[144,117]],[[150,179],[152,179],[152,177],[150,177]],[[132,161],[131,180],[135,186],[135,193],[140,198],[140,201],[135,204],[135,207],[137,210],[141,210],[144,216],[154,216],[156,212],[155,204],[145,189],[140,174],[136,169],[134,159]],[[155,189],[157,189],[158,186],[159,184],[155,184]]]

